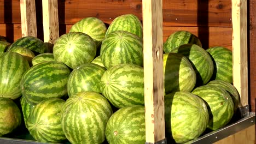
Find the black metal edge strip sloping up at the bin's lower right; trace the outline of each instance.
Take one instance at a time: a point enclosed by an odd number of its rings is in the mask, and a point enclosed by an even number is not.
[[[255,112],[250,112],[249,116],[240,119],[236,123],[227,125],[222,129],[212,131],[211,133],[198,137],[197,139],[191,140],[187,143],[214,143],[224,139],[225,137],[233,135],[238,131],[246,129],[253,124],[255,124]]]

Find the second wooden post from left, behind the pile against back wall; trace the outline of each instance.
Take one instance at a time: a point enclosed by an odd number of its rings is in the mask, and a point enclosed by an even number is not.
[[[42,5],[44,42],[48,43],[48,46],[50,46],[59,38],[58,1],[43,0]]]

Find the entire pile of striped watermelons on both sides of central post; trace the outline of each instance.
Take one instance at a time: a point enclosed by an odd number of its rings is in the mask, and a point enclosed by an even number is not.
[[[143,43],[132,14],[108,28],[95,17],[80,20],[52,51],[34,37],[12,44],[1,37],[0,135],[24,124],[40,142],[144,143]],[[164,93],[168,142],[224,127],[240,103],[232,51],[172,33],[164,43]]]

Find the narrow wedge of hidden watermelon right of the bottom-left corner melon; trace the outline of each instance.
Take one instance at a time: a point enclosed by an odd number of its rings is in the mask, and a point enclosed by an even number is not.
[[[34,105],[31,103],[28,103],[28,101],[23,96],[20,98],[20,105],[21,105],[21,110],[22,110],[25,126],[27,128],[27,118],[28,118],[28,116],[30,116],[30,113],[31,113]]]

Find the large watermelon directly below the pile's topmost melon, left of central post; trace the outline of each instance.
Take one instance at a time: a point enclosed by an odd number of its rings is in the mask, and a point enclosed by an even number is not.
[[[102,41],[101,61],[107,69],[123,63],[142,66],[142,39],[126,31],[114,31],[108,34]]]

